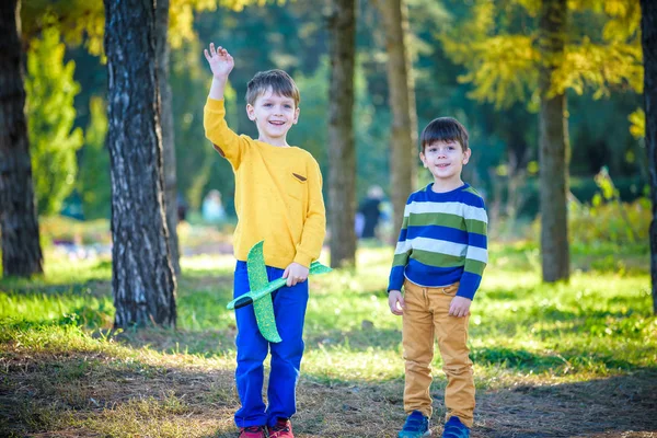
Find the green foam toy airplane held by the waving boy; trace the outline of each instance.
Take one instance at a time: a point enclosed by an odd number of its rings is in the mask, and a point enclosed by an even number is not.
[[[249,286],[251,290],[228,303],[229,310],[240,309],[253,304],[257,328],[263,337],[273,343],[283,341],[276,330],[276,318],[274,316],[274,304],[272,303],[272,292],[286,285],[286,278],[277,278],[269,281],[267,269],[265,267],[265,255],[263,253],[264,241],[257,242],[249,251],[246,256],[246,273],[249,275]],[[308,275],[330,273],[328,266],[320,262],[313,262],[310,265]]]

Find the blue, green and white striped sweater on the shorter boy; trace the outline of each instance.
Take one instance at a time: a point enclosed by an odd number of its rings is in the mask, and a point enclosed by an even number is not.
[[[408,196],[388,290],[401,290],[404,277],[425,287],[460,281],[457,296],[473,299],[488,261],[484,200],[468,184],[431,186]]]

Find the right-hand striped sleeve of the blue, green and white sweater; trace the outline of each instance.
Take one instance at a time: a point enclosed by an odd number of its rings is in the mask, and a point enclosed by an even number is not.
[[[482,283],[482,275],[488,262],[488,217],[484,207],[484,200],[473,208],[466,209],[465,230],[468,231],[468,251],[463,275],[457,296],[473,299]]]

